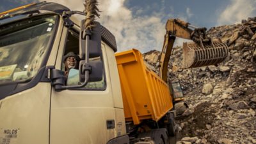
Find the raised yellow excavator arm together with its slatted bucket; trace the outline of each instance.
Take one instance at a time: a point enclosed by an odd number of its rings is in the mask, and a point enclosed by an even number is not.
[[[227,45],[208,38],[205,27],[196,28],[183,20],[169,19],[166,22],[166,34],[159,57],[159,76],[164,82],[167,82],[168,63],[176,37],[194,41],[183,44],[183,68],[218,64],[228,55]]]

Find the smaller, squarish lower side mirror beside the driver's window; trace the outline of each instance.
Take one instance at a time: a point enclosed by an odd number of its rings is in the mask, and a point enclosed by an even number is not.
[[[85,77],[83,71],[89,69],[89,79],[88,82],[97,82],[102,80],[103,76],[103,64],[100,60],[90,61],[85,63],[85,61],[79,62],[79,81],[84,82]]]

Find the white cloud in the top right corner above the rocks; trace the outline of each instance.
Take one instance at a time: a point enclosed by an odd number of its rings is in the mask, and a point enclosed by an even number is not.
[[[220,13],[218,25],[234,24],[241,22],[248,17],[255,17],[256,1],[255,0],[230,0],[230,4]]]

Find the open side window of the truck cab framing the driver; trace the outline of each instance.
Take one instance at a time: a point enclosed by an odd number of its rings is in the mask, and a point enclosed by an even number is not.
[[[79,33],[70,29],[68,31],[67,42],[65,45],[65,54],[61,69],[65,71],[67,76],[67,85],[79,85]],[[99,61],[100,57],[90,58],[89,61]],[[72,69],[72,70],[70,70]],[[76,70],[74,70],[76,69]],[[99,82],[88,82],[81,90],[104,90],[106,89],[106,78],[103,70],[103,78]],[[80,90],[79,89],[79,90]]]

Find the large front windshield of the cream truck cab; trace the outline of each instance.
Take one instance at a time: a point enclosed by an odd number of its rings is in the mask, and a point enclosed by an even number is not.
[[[42,66],[56,15],[0,26],[0,84],[31,80]]]

